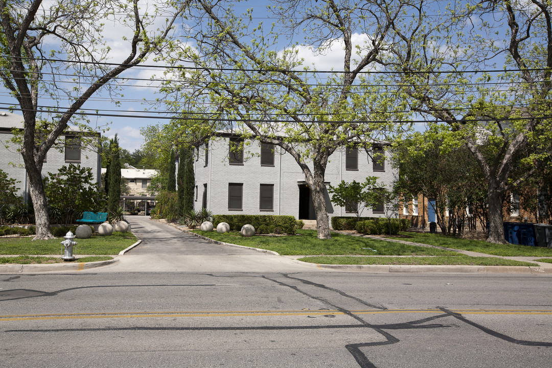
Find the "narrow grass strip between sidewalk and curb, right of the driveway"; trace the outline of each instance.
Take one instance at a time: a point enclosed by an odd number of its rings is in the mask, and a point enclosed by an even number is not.
[[[496,257],[305,257],[302,262],[317,264],[392,264],[392,265],[477,265],[477,266],[538,266],[536,263]]]

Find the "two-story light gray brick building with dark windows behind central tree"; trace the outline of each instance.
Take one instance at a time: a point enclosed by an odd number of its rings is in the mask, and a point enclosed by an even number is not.
[[[195,150],[195,210],[206,207],[215,215],[291,215],[315,219],[305,176],[289,153],[259,142],[247,146],[245,154],[230,153],[231,139],[231,135],[221,134]],[[385,152],[383,147],[376,149]],[[364,182],[368,176],[374,176],[379,178],[378,183],[390,188],[398,172],[388,161],[374,163],[362,149],[337,150],[327,164],[326,186],[337,186],[341,180]],[[355,216],[354,212],[333,205],[327,191],[326,207],[330,218]],[[367,208],[362,216],[383,217],[384,211],[381,207]]]

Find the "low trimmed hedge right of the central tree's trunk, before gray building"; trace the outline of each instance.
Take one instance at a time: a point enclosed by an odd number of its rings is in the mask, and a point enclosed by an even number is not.
[[[391,218],[391,233],[397,234],[410,227],[406,218]],[[355,230],[361,234],[389,234],[389,220],[385,217],[332,217],[333,230]]]

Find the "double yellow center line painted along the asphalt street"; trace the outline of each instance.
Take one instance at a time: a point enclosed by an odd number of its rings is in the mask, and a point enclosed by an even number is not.
[[[450,310],[459,314],[534,314],[552,316],[549,310]],[[443,311],[429,310],[359,310],[349,311],[352,314],[389,314],[389,313],[433,313]],[[2,321],[40,321],[48,319],[93,319],[93,318],[158,318],[158,317],[260,317],[260,316],[339,316],[346,312],[338,310],[300,310],[300,311],[190,311],[190,312],[111,312],[111,313],[65,313],[65,314],[31,314],[0,316]]]

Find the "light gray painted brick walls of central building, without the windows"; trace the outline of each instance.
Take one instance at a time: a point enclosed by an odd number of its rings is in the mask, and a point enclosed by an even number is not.
[[[261,146],[258,142],[248,142],[245,147],[243,164],[231,164],[229,160],[229,138],[217,137],[209,140],[209,149],[205,145],[195,151],[195,185],[196,200],[194,209],[200,210],[204,201],[206,184],[206,207],[215,215],[247,214],[247,215],[291,215],[296,218],[315,218],[310,195],[300,191],[305,187],[305,176],[299,165],[289,153],[275,147],[274,165],[261,165]],[[386,153],[387,155],[388,153]],[[208,164],[205,165],[206,155]],[[346,150],[336,151],[330,157],[326,168],[325,182],[337,186],[341,180],[346,182],[364,182],[368,176],[378,177],[378,183],[386,188],[397,178],[398,173],[391,168],[389,159],[385,162],[384,171],[374,171],[373,163],[368,153],[358,150],[358,169],[346,169]],[[229,209],[229,184],[242,184],[242,208]],[[273,185],[273,209],[262,210],[261,185]],[[238,190],[237,188],[236,190]],[[300,204],[300,197],[308,196],[309,209],[306,202]],[[326,192],[328,216],[355,216],[348,213],[344,207],[335,206]],[[300,209],[300,207],[302,207]],[[371,208],[364,209],[362,216],[384,216],[374,214]]]

